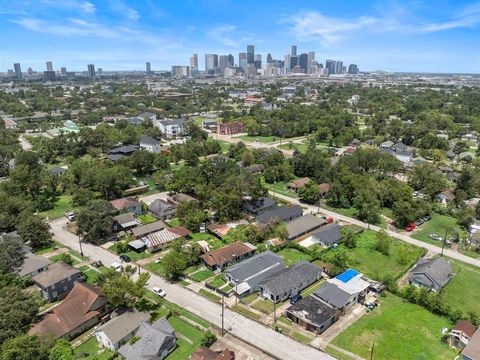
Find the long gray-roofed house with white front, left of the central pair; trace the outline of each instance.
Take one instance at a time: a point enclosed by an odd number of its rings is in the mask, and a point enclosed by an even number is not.
[[[264,279],[283,269],[283,258],[267,250],[229,267],[224,273],[235,293],[244,296],[256,291]]]

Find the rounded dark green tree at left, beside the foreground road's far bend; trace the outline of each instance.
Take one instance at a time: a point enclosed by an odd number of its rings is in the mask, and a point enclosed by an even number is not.
[[[17,221],[17,232],[22,241],[34,249],[41,249],[52,244],[50,225],[42,218],[30,213],[23,213]]]

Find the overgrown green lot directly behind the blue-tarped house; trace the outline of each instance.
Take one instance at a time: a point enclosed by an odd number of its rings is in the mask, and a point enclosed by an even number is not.
[[[422,256],[424,250],[403,241],[391,239],[390,254],[383,255],[375,249],[377,242],[376,232],[365,230],[357,236],[356,248],[349,249],[340,245],[337,249],[330,249],[323,255],[323,259],[331,262],[331,258],[339,249],[348,254],[348,265],[367,277],[383,280],[385,276],[394,278],[400,276]]]

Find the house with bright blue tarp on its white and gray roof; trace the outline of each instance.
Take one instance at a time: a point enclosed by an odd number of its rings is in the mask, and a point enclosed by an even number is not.
[[[330,304],[340,312],[345,312],[357,302],[362,303],[370,283],[356,270],[348,269],[340,275],[328,279],[315,291],[314,296]]]

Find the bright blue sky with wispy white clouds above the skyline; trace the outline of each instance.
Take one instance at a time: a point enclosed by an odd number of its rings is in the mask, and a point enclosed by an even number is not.
[[[291,45],[361,70],[480,73],[480,1],[0,0],[0,72],[168,70],[198,53],[283,60]]]

